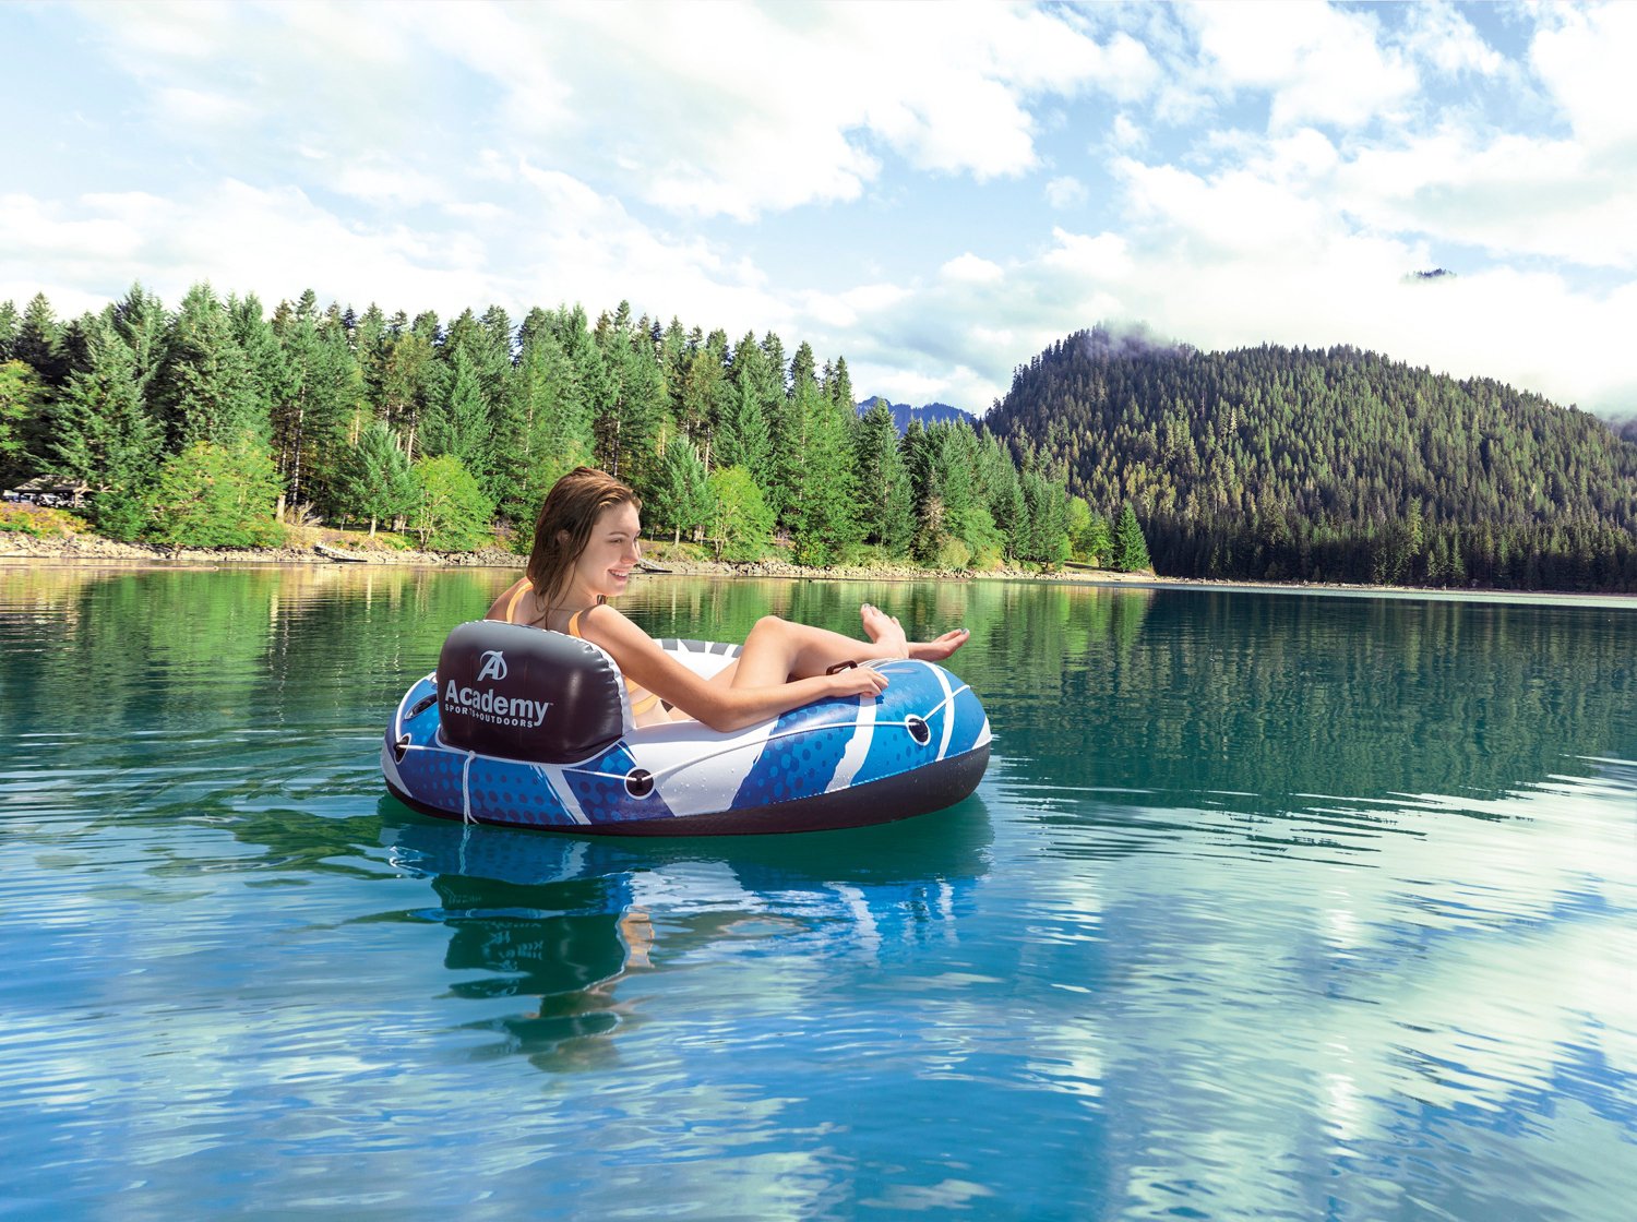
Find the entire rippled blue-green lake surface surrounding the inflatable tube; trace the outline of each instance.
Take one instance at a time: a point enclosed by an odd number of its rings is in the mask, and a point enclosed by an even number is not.
[[[503,571],[0,569],[0,1217],[1565,1219],[1637,1199],[1637,604],[871,600],[997,733],[886,828],[385,797]]]

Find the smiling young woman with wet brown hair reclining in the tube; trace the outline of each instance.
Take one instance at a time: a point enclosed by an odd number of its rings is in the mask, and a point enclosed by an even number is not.
[[[570,471],[540,507],[525,576],[488,613],[601,645],[625,676],[638,726],[691,717],[728,731],[830,695],[874,699],[887,685],[886,676],[846,663],[941,661],[966,645],[964,628],[935,641],[910,641],[894,617],[869,604],[859,609],[864,641],[764,615],[738,659],[701,679],[607,602],[625,592],[642,555],[640,509],[637,494],[614,476],[589,466]],[[845,669],[830,674],[832,667]]]

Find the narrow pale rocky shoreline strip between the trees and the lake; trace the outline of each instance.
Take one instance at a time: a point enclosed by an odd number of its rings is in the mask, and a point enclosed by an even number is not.
[[[1200,589],[1244,591],[1260,594],[1321,594],[1321,595],[1390,595],[1403,599],[1450,600],[1504,600],[1504,602],[1606,602],[1619,609],[1637,610],[1637,594],[1617,591],[1509,591],[1509,589],[1450,589],[1439,586],[1369,586],[1346,582],[1306,581],[1247,581],[1233,577],[1167,577],[1157,573],[1115,573],[1113,569],[994,569],[984,573],[953,569],[922,569],[913,566],[859,568],[838,564],[810,568],[787,561],[755,561],[730,564],[691,558],[663,558],[652,561],[645,576],[676,577],[728,577],[728,579],[789,579],[789,581],[1028,581],[1054,586],[1102,586],[1118,589]],[[70,568],[70,569],[234,569],[234,568],[476,568],[522,569],[524,556],[501,548],[485,548],[470,553],[442,551],[393,551],[372,550],[355,559],[336,559],[316,550],[286,545],[280,548],[160,548],[142,543],[116,543],[100,537],[57,535],[36,537],[0,533],[0,573],[7,569]]]

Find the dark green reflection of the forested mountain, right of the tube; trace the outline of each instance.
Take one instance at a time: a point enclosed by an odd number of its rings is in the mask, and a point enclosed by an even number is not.
[[[1062,595],[1087,622],[1113,600],[1080,643],[1053,599],[1023,607],[963,672],[985,695],[1000,775],[1046,818],[1205,795],[1223,826],[1246,816],[1244,836],[1349,851],[1405,795],[1483,815],[1630,749],[1630,610],[1161,591],[1138,617],[1126,597]],[[1061,667],[1028,666],[1049,648]]]

